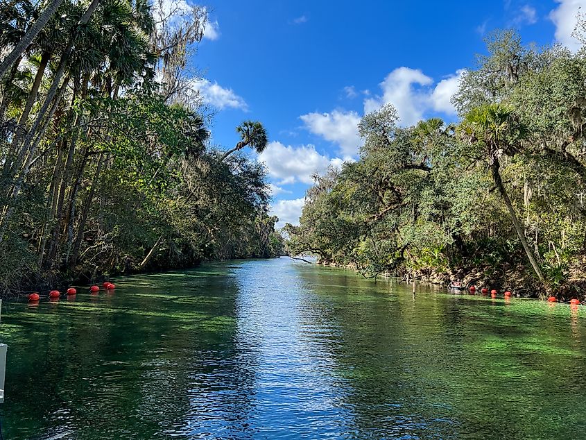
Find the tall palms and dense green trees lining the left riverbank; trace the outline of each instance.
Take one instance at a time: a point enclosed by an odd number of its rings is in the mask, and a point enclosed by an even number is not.
[[[15,0],[0,22],[1,290],[279,255],[266,170],[240,152],[266,130],[212,148],[190,87],[205,8]]]

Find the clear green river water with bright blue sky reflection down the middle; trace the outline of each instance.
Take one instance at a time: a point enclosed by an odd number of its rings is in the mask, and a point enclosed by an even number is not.
[[[4,304],[5,439],[586,438],[578,307],[288,258],[116,282]]]

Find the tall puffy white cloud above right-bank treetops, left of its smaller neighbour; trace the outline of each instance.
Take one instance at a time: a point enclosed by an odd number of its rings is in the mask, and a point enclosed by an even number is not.
[[[365,99],[364,112],[369,113],[385,104],[393,104],[403,126],[411,126],[422,119],[423,112],[429,101],[429,92],[422,87],[433,83],[433,80],[419,69],[398,67],[388,74],[380,83],[382,96]]]

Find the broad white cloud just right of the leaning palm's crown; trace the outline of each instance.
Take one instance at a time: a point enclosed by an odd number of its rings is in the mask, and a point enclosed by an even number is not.
[[[311,175],[323,173],[330,164],[339,167],[340,158],[329,159],[316,151],[313,145],[285,146],[281,142],[270,142],[259,154],[259,161],[264,162],[269,176],[279,180],[279,185],[295,182],[311,185]]]

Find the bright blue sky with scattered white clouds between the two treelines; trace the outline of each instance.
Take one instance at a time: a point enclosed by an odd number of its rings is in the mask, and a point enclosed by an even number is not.
[[[182,0],[184,1],[184,0]],[[494,28],[524,42],[572,49],[586,0],[219,1],[192,65],[217,109],[213,142],[236,141],[245,119],[261,121],[270,145],[258,160],[273,185],[273,212],[295,223],[314,171],[356,158],[356,124],[393,103],[402,125],[454,120],[449,98],[463,69],[485,53]]]

